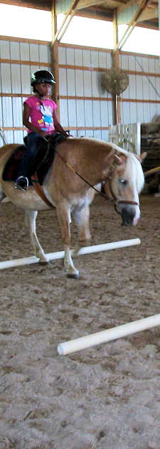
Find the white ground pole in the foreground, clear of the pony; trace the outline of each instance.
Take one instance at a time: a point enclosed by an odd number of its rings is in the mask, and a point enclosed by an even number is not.
[[[160,314],[122,324],[122,326],[112,327],[111,329],[97,332],[96,334],[86,335],[79,339],[64,341],[58,345],[58,353],[60,356],[65,356],[66,354],[87,349],[97,344],[107,343],[107,341],[122,339],[124,336],[136,334],[137,332],[142,332],[156,326],[160,326]]]

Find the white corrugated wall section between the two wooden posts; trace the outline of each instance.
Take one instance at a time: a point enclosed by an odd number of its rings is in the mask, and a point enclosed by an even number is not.
[[[109,51],[59,47],[60,120],[74,136],[107,140],[112,96],[102,92],[100,68],[111,66]]]

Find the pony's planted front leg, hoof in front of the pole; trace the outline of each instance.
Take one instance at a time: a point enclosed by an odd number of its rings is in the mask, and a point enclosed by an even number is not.
[[[57,207],[58,222],[60,224],[60,231],[64,244],[64,266],[68,277],[79,279],[80,273],[78,269],[74,267],[73,259],[70,252],[70,210],[66,205],[60,205]]]

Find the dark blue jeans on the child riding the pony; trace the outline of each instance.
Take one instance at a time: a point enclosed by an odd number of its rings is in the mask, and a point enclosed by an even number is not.
[[[39,140],[40,135],[38,133],[28,134],[26,150],[23,153],[23,157],[21,159],[18,169],[18,177],[19,176],[28,177],[29,175],[33,174]]]

